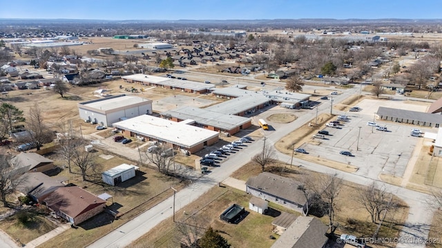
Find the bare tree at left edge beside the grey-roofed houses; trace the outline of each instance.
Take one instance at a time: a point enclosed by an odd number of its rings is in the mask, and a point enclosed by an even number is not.
[[[21,173],[14,166],[18,165],[13,163],[10,156],[0,155],[0,199],[5,207],[10,207],[6,196],[15,192],[20,184],[18,178]]]

